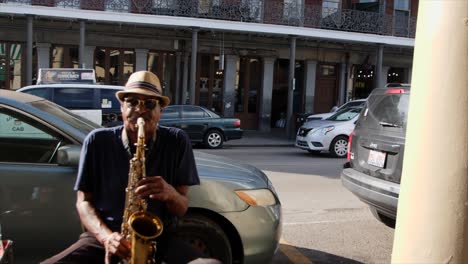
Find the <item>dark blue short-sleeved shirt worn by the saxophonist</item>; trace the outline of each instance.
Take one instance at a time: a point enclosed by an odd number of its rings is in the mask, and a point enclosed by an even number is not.
[[[93,195],[94,206],[112,231],[120,231],[125,206],[130,154],[122,143],[123,126],[100,128],[85,139],[81,151],[75,190]],[[162,176],[169,184],[200,184],[192,145],[177,128],[158,127],[155,142],[146,150],[146,176]],[[165,226],[174,224],[163,202],[148,199],[148,211]]]

